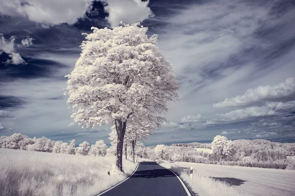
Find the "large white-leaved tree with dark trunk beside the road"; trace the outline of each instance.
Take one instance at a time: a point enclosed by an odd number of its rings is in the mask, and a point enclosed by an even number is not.
[[[113,29],[91,27],[82,53],[68,77],[65,94],[72,117],[82,127],[109,123],[118,135],[116,166],[122,170],[122,148],[128,120],[145,118],[160,126],[168,103],[178,98],[172,65],[139,23]]]

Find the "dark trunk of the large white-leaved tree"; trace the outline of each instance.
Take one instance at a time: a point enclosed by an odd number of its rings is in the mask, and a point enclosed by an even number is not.
[[[121,120],[116,120],[116,130],[118,135],[118,143],[117,143],[117,159],[116,159],[116,167],[119,171],[123,171],[122,167],[122,155],[123,155],[123,142],[124,142],[124,135],[126,131],[126,121],[122,122]]]

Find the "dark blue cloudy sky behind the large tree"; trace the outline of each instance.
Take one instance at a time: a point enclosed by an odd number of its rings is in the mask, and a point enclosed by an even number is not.
[[[82,33],[141,22],[174,67],[179,101],[145,141],[295,142],[295,0],[1,0],[0,136],[77,143],[108,139],[82,129],[63,95]]]

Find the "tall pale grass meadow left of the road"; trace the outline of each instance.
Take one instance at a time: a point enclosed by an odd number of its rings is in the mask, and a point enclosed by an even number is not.
[[[136,167],[123,160],[121,174],[112,169],[115,160],[0,148],[0,196],[93,196]]]

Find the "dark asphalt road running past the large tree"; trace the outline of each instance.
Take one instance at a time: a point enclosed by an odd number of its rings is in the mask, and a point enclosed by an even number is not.
[[[101,196],[187,196],[187,193],[173,172],[156,162],[141,162],[129,179]]]

